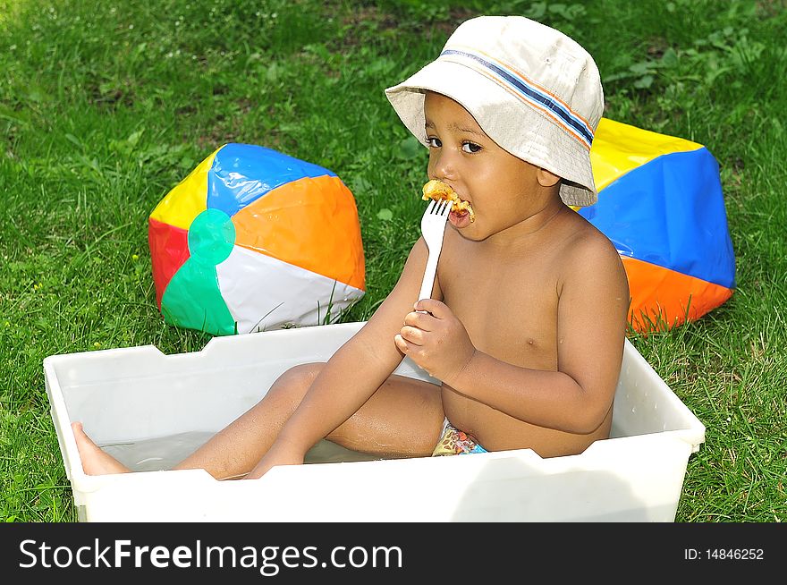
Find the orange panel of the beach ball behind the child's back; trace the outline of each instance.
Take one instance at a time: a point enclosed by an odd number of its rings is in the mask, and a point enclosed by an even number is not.
[[[623,256],[629,277],[629,318],[635,331],[665,331],[694,320],[732,296],[726,286]]]

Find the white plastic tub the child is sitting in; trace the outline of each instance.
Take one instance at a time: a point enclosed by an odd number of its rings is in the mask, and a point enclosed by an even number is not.
[[[626,342],[613,437],[580,455],[322,462],[254,481],[206,471],[88,476],[71,422],[98,445],[215,432],[285,369],[327,360],[363,323],[216,337],[201,352],[152,345],[44,360],[63,464],[81,521],[674,521],[704,425]],[[397,373],[430,379],[410,360]]]

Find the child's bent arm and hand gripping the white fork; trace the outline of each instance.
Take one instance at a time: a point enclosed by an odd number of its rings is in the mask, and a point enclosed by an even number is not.
[[[478,351],[451,309],[433,300],[416,303],[432,315],[410,312],[406,339],[397,335],[397,346],[446,386],[498,411],[540,427],[592,432],[605,419],[620,376],[629,290],[614,250],[588,247],[570,261],[558,302],[557,371],[521,368]]]

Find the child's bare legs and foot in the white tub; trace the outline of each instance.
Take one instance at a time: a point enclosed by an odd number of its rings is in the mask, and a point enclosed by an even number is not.
[[[273,444],[324,364],[287,370],[249,411],[222,429],[174,469],[204,469],[216,479],[248,473]],[[341,388],[337,388],[341,392]],[[440,387],[392,376],[328,439],[357,451],[381,455],[429,455],[444,420]],[[129,471],[101,451],[74,423],[74,437],[86,473]]]

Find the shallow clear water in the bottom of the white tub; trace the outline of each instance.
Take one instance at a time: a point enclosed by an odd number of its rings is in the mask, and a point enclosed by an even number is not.
[[[131,471],[161,471],[172,469],[175,464],[185,459],[187,455],[194,452],[212,436],[211,432],[190,431],[168,437],[101,445],[101,448]],[[351,451],[323,440],[309,450],[305,462],[332,463],[373,461],[375,459],[380,459],[380,457]]]

